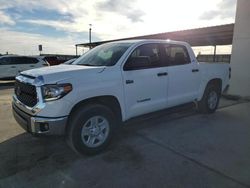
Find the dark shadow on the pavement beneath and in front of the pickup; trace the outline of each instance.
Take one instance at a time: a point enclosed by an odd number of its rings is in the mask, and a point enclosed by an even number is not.
[[[193,109],[182,111],[161,111],[142,116],[125,123],[120,128],[111,145],[94,159],[103,159],[107,163],[126,161],[133,165],[141,161],[140,155],[134,151],[131,139],[136,131],[150,126],[156,126],[161,121],[170,121],[187,114],[193,114]],[[22,171],[29,171],[35,166],[56,171],[70,167],[77,160],[93,159],[93,156],[76,154],[65,142],[64,137],[34,137],[28,133],[17,135],[0,143],[0,179],[13,176]]]

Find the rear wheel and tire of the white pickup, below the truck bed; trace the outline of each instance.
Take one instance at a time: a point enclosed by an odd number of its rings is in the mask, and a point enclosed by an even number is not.
[[[201,113],[211,114],[218,108],[220,100],[220,88],[214,84],[208,84],[202,99],[198,101],[198,111]]]

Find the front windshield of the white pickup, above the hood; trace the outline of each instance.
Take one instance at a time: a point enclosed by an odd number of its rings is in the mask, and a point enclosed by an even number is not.
[[[109,43],[97,46],[83,54],[73,64],[86,66],[112,66],[117,63],[132,43]]]

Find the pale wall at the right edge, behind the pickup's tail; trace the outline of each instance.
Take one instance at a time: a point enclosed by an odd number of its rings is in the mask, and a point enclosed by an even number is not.
[[[238,0],[229,94],[250,96],[250,0]]]

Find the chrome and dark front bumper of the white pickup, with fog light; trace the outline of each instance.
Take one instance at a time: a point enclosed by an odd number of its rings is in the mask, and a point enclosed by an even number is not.
[[[64,135],[68,117],[36,117],[18,108],[12,103],[12,112],[19,125],[29,133],[36,135]]]

